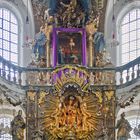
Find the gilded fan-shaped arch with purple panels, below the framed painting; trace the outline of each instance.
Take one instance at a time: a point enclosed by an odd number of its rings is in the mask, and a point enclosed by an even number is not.
[[[60,92],[67,83],[76,83],[83,91],[87,91],[89,87],[89,74],[86,70],[80,67],[66,65],[63,68],[58,68],[53,72],[55,89]]]

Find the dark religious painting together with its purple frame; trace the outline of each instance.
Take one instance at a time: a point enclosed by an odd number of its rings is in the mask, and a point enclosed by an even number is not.
[[[53,34],[53,66],[86,65],[86,34],[79,28],[55,28]]]

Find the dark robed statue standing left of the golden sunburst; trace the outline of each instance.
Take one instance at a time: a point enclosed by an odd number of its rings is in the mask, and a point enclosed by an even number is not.
[[[11,121],[11,133],[13,140],[24,140],[25,122],[22,117],[22,110],[18,111],[18,115]]]

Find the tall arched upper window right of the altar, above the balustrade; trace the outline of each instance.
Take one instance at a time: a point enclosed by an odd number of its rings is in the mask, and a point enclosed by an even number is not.
[[[140,56],[140,9],[133,9],[123,17],[120,31],[120,65],[124,65]]]

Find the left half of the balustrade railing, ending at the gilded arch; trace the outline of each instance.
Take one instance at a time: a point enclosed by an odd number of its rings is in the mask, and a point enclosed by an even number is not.
[[[0,77],[21,87],[50,86],[52,70],[53,68],[16,66],[0,56]]]

